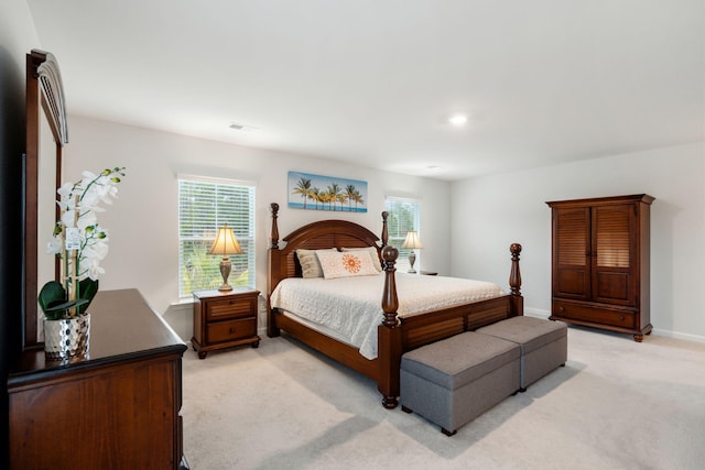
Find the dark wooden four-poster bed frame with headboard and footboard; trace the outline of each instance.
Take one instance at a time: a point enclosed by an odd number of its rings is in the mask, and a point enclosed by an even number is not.
[[[283,330],[299,341],[375,380],[382,395],[382,405],[387,408],[394,408],[399,404],[399,368],[404,352],[463,331],[523,315],[519,270],[521,245],[518,243],[512,243],[510,247],[509,293],[500,292],[489,298],[455,303],[413,313],[413,315],[399,315],[400,299],[397,283],[402,274],[395,273],[394,269],[399,253],[387,243],[387,212],[382,212],[381,237],[347,220],[322,220],[294,230],[282,239],[285,245],[280,248],[279,205],[271,204],[270,209],[272,226],[268,250],[267,335],[271,338],[278,337]],[[272,305],[272,296],[279,295],[278,286],[284,280],[303,276],[296,250],[369,249],[369,247],[373,247],[378,253],[382,270],[379,274],[381,309],[379,307],[377,309],[379,324],[376,327],[376,338],[372,339],[376,341],[373,354],[369,351],[366,353],[359,346]],[[432,276],[414,277],[431,278]]]

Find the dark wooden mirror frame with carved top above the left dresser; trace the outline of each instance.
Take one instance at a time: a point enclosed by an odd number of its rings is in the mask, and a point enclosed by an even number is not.
[[[26,55],[26,102],[25,102],[26,150],[24,157],[24,295],[22,324],[22,349],[30,350],[42,347],[39,331],[39,293],[37,250],[41,233],[39,226],[40,194],[40,159],[51,157],[45,150],[41,151],[41,119],[45,118],[55,142],[56,182],[61,186],[63,147],[68,143],[68,128],[64,100],[64,86],[56,58],[44,51],[33,50]],[[55,219],[58,218],[55,207]],[[48,237],[48,234],[47,234]],[[58,278],[58,259],[55,263],[54,276]]]

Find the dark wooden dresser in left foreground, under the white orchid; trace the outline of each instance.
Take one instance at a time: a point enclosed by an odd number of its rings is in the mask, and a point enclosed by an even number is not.
[[[12,469],[178,469],[186,345],[137,289],[99,292],[89,357],[25,352],[8,379]]]

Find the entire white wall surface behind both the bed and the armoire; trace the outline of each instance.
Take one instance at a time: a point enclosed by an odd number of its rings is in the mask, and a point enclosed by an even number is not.
[[[547,315],[551,305],[551,214],[545,201],[648,193],[657,198],[651,227],[654,331],[705,340],[705,315],[697,302],[697,282],[705,271],[698,245],[705,239],[705,144],[448,184],[83,117],[69,119],[65,179],[77,178],[83,170],[128,168],[119,200],[101,217],[111,237],[101,288],[138,287],[160,313],[178,300],[176,175],[257,183],[257,287],[264,291],[269,204],[281,206],[282,237],[322,218],[321,212],[285,207],[286,173],[293,170],[367,181],[368,214],[325,217],[350,219],[375,232],[384,196],[420,197],[424,270],[507,286],[509,244],[520,242],[527,310],[539,315]],[[188,332],[182,332],[185,336]]]

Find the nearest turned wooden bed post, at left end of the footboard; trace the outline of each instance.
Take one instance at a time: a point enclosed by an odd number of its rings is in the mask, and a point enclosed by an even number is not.
[[[390,409],[395,408],[399,404],[399,368],[402,354],[401,328],[397,318],[399,298],[394,281],[397,256],[399,256],[399,250],[394,247],[388,245],[382,249],[384,267],[382,310],[384,318],[382,324],[377,327],[377,352],[380,368],[377,389],[382,393],[382,405]]]

